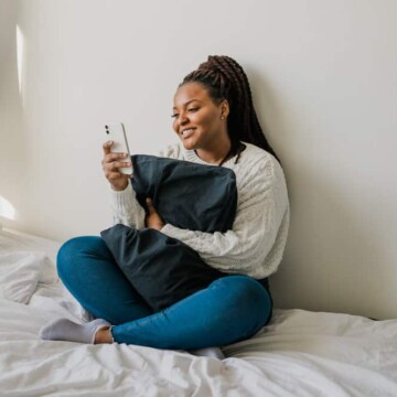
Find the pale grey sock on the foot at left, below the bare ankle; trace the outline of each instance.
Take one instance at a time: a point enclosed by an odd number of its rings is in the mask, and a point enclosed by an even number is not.
[[[46,341],[69,341],[93,344],[96,332],[101,328],[110,325],[103,319],[84,324],[77,324],[67,319],[57,319],[40,330],[40,337]]]

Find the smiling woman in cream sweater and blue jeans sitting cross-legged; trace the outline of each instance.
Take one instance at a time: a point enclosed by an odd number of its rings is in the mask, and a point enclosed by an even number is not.
[[[111,186],[115,224],[161,230],[228,276],[152,313],[99,237],[74,238],[60,250],[58,273],[97,320],[56,320],[42,329],[43,339],[197,350],[247,339],[270,320],[267,278],[281,261],[289,203],[282,169],[259,126],[243,68],[230,57],[210,56],[179,86],[172,117],[182,146],[169,148],[163,157],[235,172],[233,229],[208,234],[164,225],[150,200],[146,216],[129,176],[118,171],[130,165],[127,154],[111,153],[112,143],[106,142],[103,168]]]

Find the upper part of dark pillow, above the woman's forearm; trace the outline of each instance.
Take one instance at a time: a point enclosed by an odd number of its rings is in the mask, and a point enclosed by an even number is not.
[[[232,228],[237,207],[236,175],[226,168],[155,155],[132,155],[132,187],[147,210],[151,197],[165,223],[207,233]]]

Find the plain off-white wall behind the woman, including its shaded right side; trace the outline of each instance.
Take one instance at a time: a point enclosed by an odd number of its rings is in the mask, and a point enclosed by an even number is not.
[[[155,153],[175,139],[178,83],[227,54],[289,184],[276,304],[397,315],[396,1],[0,1],[8,226],[60,240],[106,228],[104,122],[125,121],[133,151]]]

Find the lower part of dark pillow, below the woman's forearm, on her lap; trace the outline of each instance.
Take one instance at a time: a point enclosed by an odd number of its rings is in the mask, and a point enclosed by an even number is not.
[[[101,233],[116,262],[154,312],[206,288],[223,275],[163,233],[116,225]]]

